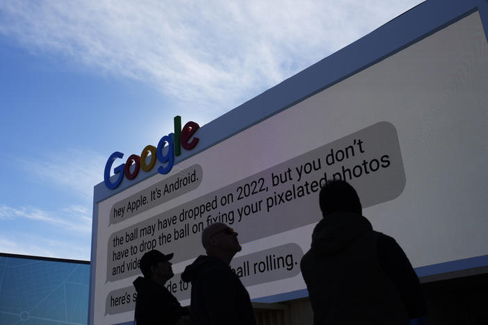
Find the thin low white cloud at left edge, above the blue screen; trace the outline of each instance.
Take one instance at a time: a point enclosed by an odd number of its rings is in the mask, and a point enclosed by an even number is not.
[[[67,206],[57,211],[45,211],[40,208],[24,206],[13,208],[0,205],[0,220],[30,219],[41,224],[49,224],[63,231],[80,233],[89,237],[92,231],[90,210],[83,206]]]

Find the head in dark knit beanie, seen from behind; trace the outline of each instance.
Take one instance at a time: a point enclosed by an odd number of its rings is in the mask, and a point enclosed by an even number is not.
[[[346,181],[334,179],[320,189],[320,210],[323,217],[331,213],[362,215],[362,206],[356,190]]]

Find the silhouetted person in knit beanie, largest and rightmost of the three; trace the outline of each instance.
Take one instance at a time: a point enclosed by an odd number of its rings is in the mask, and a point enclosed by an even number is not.
[[[427,314],[418,277],[396,241],[373,231],[354,188],[320,190],[323,219],[300,263],[314,324],[409,324]]]

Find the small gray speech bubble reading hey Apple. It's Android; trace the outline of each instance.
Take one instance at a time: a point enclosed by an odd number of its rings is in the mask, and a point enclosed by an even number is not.
[[[115,203],[110,210],[109,224],[117,224],[144,211],[195,190],[203,178],[200,165],[193,165],[165,180]]]

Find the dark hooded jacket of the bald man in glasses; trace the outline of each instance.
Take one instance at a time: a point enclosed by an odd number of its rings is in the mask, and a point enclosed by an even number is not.
[[[193,325],[255,325],[254,310],[241,280],[213,256],[199,256],[181,279],[191,282]]]

